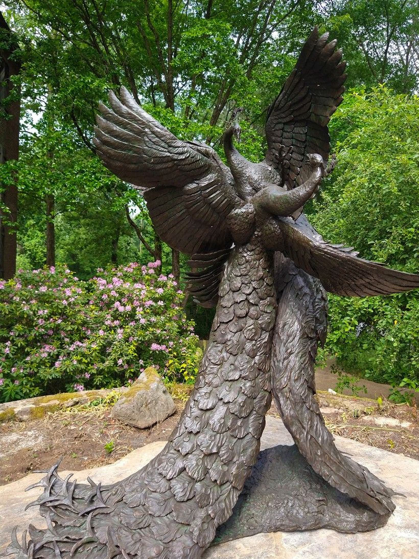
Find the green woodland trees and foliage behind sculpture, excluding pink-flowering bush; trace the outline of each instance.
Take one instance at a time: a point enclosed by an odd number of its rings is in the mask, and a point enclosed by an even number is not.
[[[172,273],[182,286],[187,255],[161,243],[140,193],[112,176],[95,153],[99,101],[123,85],[173,134],[206,141],[221,156],[223,130],[242,107],[239,149],[259,161],[266,110],[315,25],[338,40],[348,79],[330,126],[338,164],[307,213],[326,239],[417,271],[417,1],[8,0],[3,15],[21,61],[14,79],[22,113],[20,159],[0,166],[0,191],[18,177],[23,275],[65,263],[88,282],[97,268],[122,266],[126,273],[131,262],[160,260],[158,272]],[[0,40],[10,46],[7,33]],[[10,101],[2,100],[3,107]],[[4,205],[2,212],[6,219]],[[185,310],[196,333],[207,337],[212,312],[191,300]],[[412,292],[330,296],[322,357],[414,390],[418,323],[419,298]],[[6,348],[13,324],[0,326]],[[16,382],[3,382],[16,393],[4,399],[22,397]]]

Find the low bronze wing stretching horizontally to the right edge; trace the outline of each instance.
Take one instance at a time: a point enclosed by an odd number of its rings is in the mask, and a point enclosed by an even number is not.
[[[298,268],[318,278],[323,287],[336,295],[364,297],[389,295],[419,287],[419,274],[399,272],[383,264],[357,257],[357,252],[324,241],[313,234],[306,218],[297,221],[278,217],[284,237],[283,253]]]

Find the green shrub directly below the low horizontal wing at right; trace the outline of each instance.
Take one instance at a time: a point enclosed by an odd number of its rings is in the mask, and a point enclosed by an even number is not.
[[[419,301],[416,297],[408,293],[356,299],[329,297],[326,350],[336,356],[345,371],[393,386],[406,378],[417,382]]]

